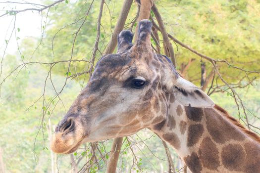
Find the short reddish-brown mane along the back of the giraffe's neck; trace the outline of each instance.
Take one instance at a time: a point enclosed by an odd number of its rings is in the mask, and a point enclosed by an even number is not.
[[[241,125],[241,123],[239,123],[234,117],[230,116],[228,114],[228,112],[223,109],[222,107],[218,106],[215,104],[214,108],[218,111],[220,111],[222,114],[222,116],[224,116],[229,122],[231,122],[232,124],[234,124],[236,127],[238,127],[240,130],[244,131],[244,133],[246,133],[249,137],[251,137],[253,140],[257,141],[258,143],[260,143],[260,136],[257,135],[256,133],[247,130],[243,125]]]

